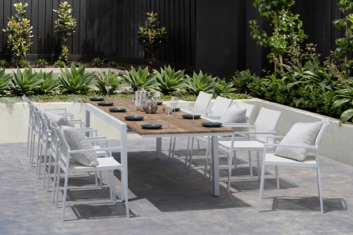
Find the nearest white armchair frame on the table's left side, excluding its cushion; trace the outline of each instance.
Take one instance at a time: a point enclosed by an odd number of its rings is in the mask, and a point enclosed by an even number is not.
[[[116,191],[115,191],[115,182],[114,182],[114,170],[119,170],[121,171],[121,174],[126,174],[126,172],[123,171],[123,166],[117,162],[113,157],[106,157],[106,158],[98,158],[98,165],[97,167],[86,167],[81,164],[79,164],[77,161],[71,158],[71,154],[75,153],[88,153],[88,152],[97,152],[97,149],[85,149],[85,150],[70,150],[70,147],[64,137],[64,134],[62,133],[61,129],[53,122],[50,122],[50,128],[53,131],[53,139],[57,140],[57,146],[58,148],[56,149],[58,154],[57,154],[57,172],[54,172],[56,174],[56,183],[55,183],[55,208],[57,208],[58,204],[58,192],[59,192],[59,181],[60,181],[60,169],[64,172],[65,174],[65,182],[64,182],[64,190],[63,190],[63,202],[62,202],[62,214],[61,214],[61,220],[65,220],[65,207],[66,207],[66,194],[67,194],[67,181],[68,181],[68,174],[71,173],[80,173],[80,172],[97,172],[97,171],[108,171],[108,176],[109,176],[109,187],[111,188],[112,195],[113,196],[113,202],[116,204]],[[91,141],[94,142],[95,140]],[[106,152],[112,152],[112,151],[121,151],[123,148],[127,148],[127,146],[124,147],[114,147],[114,148],[102,148],[102,151]],[[123,176],[122,178],[125,178]],[[128,192],[127,188],[124,189],[124,196],[125,198],[128,198]],[[126,216],[129,218],[129,204],[128,200],[125,200],[125,206],[126,206]]]

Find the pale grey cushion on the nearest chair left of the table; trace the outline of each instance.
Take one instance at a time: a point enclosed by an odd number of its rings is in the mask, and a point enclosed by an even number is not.
[[[92,144],[83,136],[83,134],[73,127],[61,126],[61,130],[64,133],[64,137],[70,150],[94,149]],[[71,154],[71,157],[83,166],[98,166],[98,157],[95,152]]]

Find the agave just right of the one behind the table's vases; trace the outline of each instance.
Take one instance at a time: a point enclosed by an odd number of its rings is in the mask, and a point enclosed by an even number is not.
[[[175,72],[174,69],[164,66],[164,70],[160,68],[160,73],[157,70],[153,70],[156,74],[158,87],[163,94],[169,94],[174,91],[181,90],[188,86],[188,80],[184,78],[184,71],[179,70]]]

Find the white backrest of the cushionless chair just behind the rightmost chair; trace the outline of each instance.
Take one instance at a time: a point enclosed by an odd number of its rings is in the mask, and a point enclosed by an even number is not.
[[[260,112],[257,115],[255,121],[255,132],[274,132],[280,119],[281,112],[272,109],[261,107]],[[263,143],[266,142],[267,136],[273,136],[271,134],[256,134],[255,138]],[[274,143],[273,139],[270,139],[269,143]]]

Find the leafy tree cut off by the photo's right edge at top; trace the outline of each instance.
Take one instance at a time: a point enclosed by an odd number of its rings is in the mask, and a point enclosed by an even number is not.
[[[353,0],[339,0],[339,10],[342,13],[352,11]],[[338,47],[334,51],[335,56],[344,56],[344,62],[341,63],[341,70],[344,72],[344,79],[349,75],[349,69],[353,67],[353,59],[349,59],[349,52],[353,51],[353,14],[345,16],[343,19],[334,20],[333,25],[337,29],[345,27],[345,37],[336,39]]]

